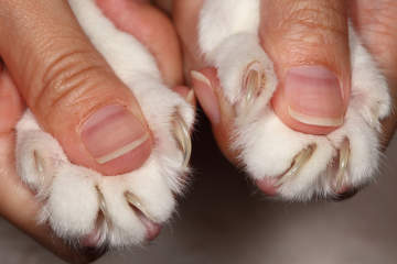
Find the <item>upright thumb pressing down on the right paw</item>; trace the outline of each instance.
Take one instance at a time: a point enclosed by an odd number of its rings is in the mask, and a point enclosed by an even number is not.
[[[351,80],[346,1],[261,0],[259,34],[280,81],[278,117],[311,134],[340,127]]]

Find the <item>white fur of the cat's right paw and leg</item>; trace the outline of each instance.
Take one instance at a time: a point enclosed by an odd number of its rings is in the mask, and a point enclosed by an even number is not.
[[[286,199],[307,200],[314,195],[334,194],[339,147],[350,140],[351,155],[345,183],[355,187],[371,180],[379,163],[379,120],[390,111],[385,78],[350,25],[352,97],[345,123],[328,136],[296,132],[272,112],[269,100],[277,88],[272,63],[259,45],[259,0],[205,1],[200,16],[201,51],[218,70],[225,97],[236,109],[233,147],[254,179],[278,177],[294,156],[310,144],[316,148],[298,176],[279,188]],[[266,75],[265,89],[247,109],[243,78],[247,65],[260,62]]]

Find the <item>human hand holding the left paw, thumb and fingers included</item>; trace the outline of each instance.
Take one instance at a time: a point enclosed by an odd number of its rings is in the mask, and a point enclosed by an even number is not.
[[[103,0],[97,4],[118,28],[135,35],[154,54],[164,82],[185,97],[187,89],[180,86],[183,77],[178,40],[169,20],[147,1]],[[7,68],[0,85],[6,92],[4,105],[0,105],[3,108],[0,150],[4,153],[1,215],[64,258],[84,261],[87,256],[54,239],[49,227],[36,224],[42,205],[15,175],[14,125],[22,111],[17,90],[40,125],[61,143],[71,162],[104,175],[138,169],[151,153],[152,133],[137,99],[95,50],[66,1],[2,1],[0,21],[0,55]],[[109,105],[119,106],[118,121],[127,127],[119,138],[128,141],[144,134],[149,138],[124,155],[99,163],[96,151],[115,151],[119,142],[111,142],[115,138],[93,141],[95,136],[84,133],[85,123]],[[96,133],[111,129],[101,127]],[[103,252],[95,253],[94,258]]]

